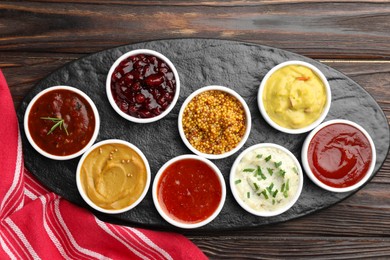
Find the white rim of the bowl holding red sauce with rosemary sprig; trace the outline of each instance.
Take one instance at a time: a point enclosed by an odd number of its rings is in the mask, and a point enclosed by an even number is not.
[[[93,135],[91,137],[91,139],[89,140],[89,142],[87,143],[87,145],[84,146],[83,149],[81,149],[80,151],[76,152],[76,153],[73,153],[73,154],[70,154],[70,155],[65,155],[65,156],[60,156],[60,155],[53,155],[53,154],[50,154],[48,152],[46,152],[45,150],[43,150],[42,148],[40,148],[36,142],[34,141],[34,139],[32,138],[31,136],[31,133],[30,133],[30,129],[28,127],[28,118],[29,118],[29,115],[30,115],[30,112],[31,112],[31,108],[33,107],[33,105],[37,102],[37,100],[42,97],[44,94],[48,93],[48,92],[51,92],[51,91],[56,91],[56,90],[68,90],[68,91],[71,91],[71,92],[74,92],[80,96],[82,96],[88,103],[89,105],[91,106],[92,108],[92,111],[94,113],[94,116],[95,116],[95,130],[93,132]],[[92,146],[92,144],[95,142],[98,134],[99,134],[99,129],[100,129],[100,117],[99,117],[99,113],[98,113],[98,110],[94,104],[94,102],[84,93],[82,92],[81,90],[77,89],[77,88],[74,88],[74,87],[70,87],[70,86],[54,86],[54,87],[50,87],[50,88],[47,88],[41,92],[39,92],[31,101],[30,103],[28,104],[27,108],[26,108],[26,112],[24,114],[24,132],[26,133],[26,137],[27,137],[27,140],[30,142],[30,144],[32,145],[32,147],[37,151],[39,152],[40,154],[42,154],[43,156],[47,157],[47,158],[50,158],[50,159],[54,159],[54,160],[69,160],[69,159],[73,159],[73,158],[76,158],[80,155],[82,155],[86,150],[88,150],[89,147]]]

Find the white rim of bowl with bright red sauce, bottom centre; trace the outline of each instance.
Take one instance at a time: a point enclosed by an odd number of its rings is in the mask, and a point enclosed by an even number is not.
[[[180,161],[180,160],[185,160],[185,159],[194,159],[194,160],[199,160],[205,164],[207,164],[211,169],[213,169],[214,173],[217,175],[218,179],[219,179],[219,183],[221,185],[221,191],[222,191],[222,194],[221,194],[221,200],[218,204],[218,207],[217,209],[213,212],[212,215],[210,215],[208,218],[206,218],[205,220],[203,221],[200,221],[200,222],[196,222],[196,223],[185,223],[185,222],[180,222],[179,220],[176,220],[174,218],[172,218],[171,216],[169,216],[165,210],[161,207],[160,205],[160,202],[159,202],[159,199],[158,199],[158,184],[159,184],[159,181],[160,181],[160,178],[162,176],[162,174],[164,173],[164,171],[170,166],[172,165],[173,163],[177,162],[177,161]],[[221,171],[218,169],[218,167],[212,163],[211,161],[203,158],[203,157],[200,157],[200,156],[197,156],[197,155],[192,155],[192,154],[189,154],[189,155],[180,155],[180,156],[177,156],[171,160],[169,160],[168,162],[166,162],[161,168],[160,170],[157,172],[157,175],[154,179],[154,182],[153,182],[153,188],[152,188],[152,195],[153,195],[153,202],[154,202],[154,205],[158,211],[158,213],[170,224],[176,226],[176,227],[179,227],[179,228],[184,228],[184,229],[192,229],[192,228],[198,228],[198,227],[201,227],[201,226],[204,226],[208,223],[210,223],[213,219],[215,219],[218,214],[221,212],[222,208],[223,208],[223,205],[225,203],[225,199],[226,199],[226,185],[225,185],[225,180],[222,176],[222,173]]]

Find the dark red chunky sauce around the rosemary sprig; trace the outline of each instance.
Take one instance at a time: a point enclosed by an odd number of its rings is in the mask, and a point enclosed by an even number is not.
[[[49,133],[56,123],[42,119],[48,117],[63,119],[63,125]],[[66,89],[53,90],[42,95],[32,106],[28,128],[32,139],[42,150],[66,156],[80,151],[91,140],[95,115],[81,95]]]

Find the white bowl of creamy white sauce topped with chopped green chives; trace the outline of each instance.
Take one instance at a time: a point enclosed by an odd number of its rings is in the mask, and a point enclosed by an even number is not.
[[[263,217],[279,215],[292,207],[302,185],[302,169],[295,156],[271,143],[247,148],[230,173],[236,201],[248,212]]]

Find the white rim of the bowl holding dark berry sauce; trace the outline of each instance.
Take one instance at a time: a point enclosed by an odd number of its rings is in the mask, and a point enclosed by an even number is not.
[[[152,56],[156,56],[156,57],[160,58],[161,60],[163,60],[171,68],[171,70],[173,72],[173,75],[175,76],[175,80],[176,80],[176,84],[175,84],[176,85],[176,91],[175,91],[175,95],[174,95],[174,97],[172,99],[172,102],[169,104],[169,106],[167,107],[167,109],[164,112],[162,112],[158,116],[151,117],[151,118],[137,118],[137,117],[133,117],[133,116],[131,116],[129,114],[126,114],[125,112],[123,112],[118,107],[118,105],[116,104],[116,102],[115,102],[115,100],[113,98],[112,92],[111,92],[111,76],[112,76],[112,73],[114,72],[114,70],[116,69],[116,67],[124,59],[126,59],[126,58],[128,58],[130,56],[138,55],[138,54],[152,55]],[[180,95],[180,78],[179,78],[179,73],[177,72],[175,65],[173,65],[173,63],[166,56],[164,56],[160,52],[157,52],[157,51],[154,51],[154,50],[150,50],[150,49],[135,49],[135,50],[131,50],[131,51],[128,51],[128,52],[122,54],[111,65],[110,70],[108,71],[108,74],[107,74],[107,78],[106,78],[106,95],[107,95],[108,101],[110,102],[112,108],[120,116],[122,116],[126,120],[129,120],[129,121],[134,122],[134,123],[152,123],[152,122],[158,121],[158,120],[162,119],[163,117],[165,117],[166,115],[168,115],[169,112],[171,112],[171,110],[175,107],[175,105],[177,103],[177,100],[179,98],[179,95]]]

